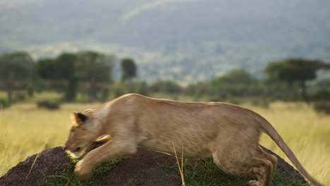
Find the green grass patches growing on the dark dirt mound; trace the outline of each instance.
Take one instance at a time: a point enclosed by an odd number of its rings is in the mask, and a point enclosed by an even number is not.
[[[77,161],[74,161],[76,163]],[[86,185],[86,186],[96,186],[100,185],[102,178],[105,173],[111,168],[114,168],[121,160],[111,160],[106,163],[102,163],[97,166],[93,171],[92,178],[87,181],[80,181],[73,173],[65,173],[62,175],[51,176],[51,182],[49,185],[60,186],[60,185]],[[73,170],[74,164],[71,164],[69,170]],[[178,171],[177,164],[161,164],[159,165],[164,171],[177,171],[178,176],[176,179],[181,180],[180,173]],[[164,175],[166,176],[166,175]],[[226,173],[218,168],[212,161],[211,158],[202,159],[196,163],[190,163],[190,161],[183,161],[183,176],[185,181],[185,186],[238,186],[238,185],[248,185],[247,182],[250,180],[255,180],[253,176],[238,176]],[[146,178],[148,179],[148,178]],[[127,185],[130,185],[130,180],[127,180]],[[273,180],[271,181],[273,186],[309,186],[309,184],[302,183],[300,180],[293,179],[283,179],[281,173],[276,171]]]

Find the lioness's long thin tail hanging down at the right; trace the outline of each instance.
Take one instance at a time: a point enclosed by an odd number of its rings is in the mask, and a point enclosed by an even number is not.
[[[288,147],[286,142],[282,139],[282,137],[279,135],[279,132],[275,130],[275,128],[264,118],[262,118],[262,128],[264,132],[271,137],[271,139],[279,146],[279,148],[288,156],[288,159],[291,160],[293,165],[295,165],[295,168],[298,168],[298,171],[307,179],[309,180],[313,185],[315,186],[322,186],[321,183],[317,182],[317,180],[314,180],[310,174],[307,173],[305,168],[302,167],[300,162],[298,161],[297,157],[295,157],[295,154],[293,154],[293,151]]]

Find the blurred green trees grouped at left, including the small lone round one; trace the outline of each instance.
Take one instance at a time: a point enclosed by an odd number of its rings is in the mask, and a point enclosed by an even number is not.
[[[96,51],[64,52],[37,61],[17,51],[0,56],[0,89],[6,91],[8,101],[13,101],[14,91],[23,89],[30,96],[35,91],[55,90],[63,93],[64,101],[74,101],[80,92],[95,101],[108,96],[113,66],[114,56]],[[123,58],[121,67],[123,82],[136,76],[132,58]]]

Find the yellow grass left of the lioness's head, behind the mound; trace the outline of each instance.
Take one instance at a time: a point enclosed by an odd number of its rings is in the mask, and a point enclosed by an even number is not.
[[[93,104],[65,104],[59,111],[15,104],[0,113],[0,175],[42,149],[62,146],[70,127],[69,114]]]

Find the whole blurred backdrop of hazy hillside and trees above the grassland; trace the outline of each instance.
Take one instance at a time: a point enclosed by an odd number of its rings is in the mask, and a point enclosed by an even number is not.
[[[305,101],[329,112],[329,6],[1,1],[0,103],[94,102],[137,92],[260,106]]]

